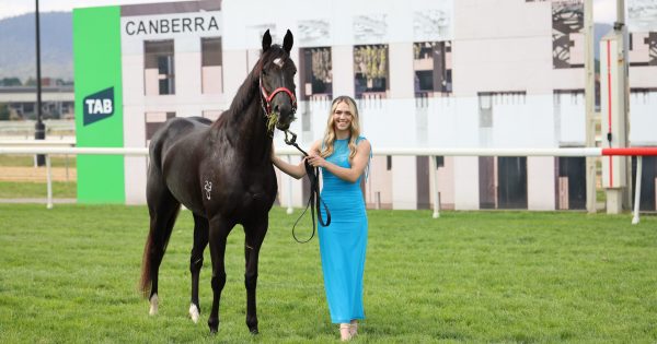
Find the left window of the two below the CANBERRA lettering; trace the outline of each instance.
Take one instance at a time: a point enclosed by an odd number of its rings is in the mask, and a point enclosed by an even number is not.
[[[173,39],[143,41],[146,95],[175,94]]]

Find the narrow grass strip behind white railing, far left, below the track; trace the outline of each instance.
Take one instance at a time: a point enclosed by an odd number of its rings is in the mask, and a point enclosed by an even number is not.
[[[53,198],[74,199],[78,197],[77,189],[78,183],[74,181],[53,181]],[[48,190],[45,182],[0,181],[0,199],[45,199]]]

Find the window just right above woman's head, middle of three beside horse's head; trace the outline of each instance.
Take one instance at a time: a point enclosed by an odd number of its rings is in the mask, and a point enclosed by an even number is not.
[[[354,47],[356,98],[385,98],[390,88],[388,45]]]

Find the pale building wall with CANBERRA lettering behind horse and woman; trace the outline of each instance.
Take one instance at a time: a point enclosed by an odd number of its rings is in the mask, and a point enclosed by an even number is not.
[[[193,2],[195,3],[195,2]],[[272,7],[264,0],[220,2],[220,10],[204,12],[124,15],[122,50],[124,81],[124,128],[126,146],[147,144],[146,114],[175,112],[176,117],[212,116],[230,106],[244,78],[258,58],[262,33],[269,28],[274,43],[280,43],[287,28],[295,34],[291,56],[302,47],[331,47],[333,95],[355,94],[354,46],[388,45],[389,87],[382,99],[358,99],[362,134],[373,152],[387,147],[558,147],[583,146],[584,69],[583,36],[569,36],[569,63],[553,66],[553,1],[479,0],[384,0],[372,7],[368,1],[301,1]],[[575,2],[576,3],[576,2]],[[141,5],[155,9],[160,4]],[[267,8],[267,11],[252,11]],[[290,11],[290,9],[295,9]],[[146,11],[148,12],[148,11]],[[152,10],[152,13],[157,11]],[[134,12],[132,12],[134,13]],[[128,21],[216,17],[216,29],[193,34],[128,35]],[[230,28],[230,29],[228,29]],[[201,93],[200,38],[221,36],[221,92]],[[173,39],[175,95],[145,96],[143,41]],[[451,41],[453,92],[424,100],[415,98],[413,43]],[[633,69],[633,87],[650,87],[655,67]],[[653,78],[655,76],[655,78]],[[296,84],[301,87],[299,76]],[[654,86],[653,86],[654,87]],[[572,92],[572,93],[568,93]],[[578,93],[579,92],[579,93]],[[298,92],[299,94],[299,92]],[[632,98],[636,142],[654,141],[650,109],[655,93]],[[485,99],[485,100],[483,100]],[[485,118],[482,102],[489,102]],[[330,99],[299,102],[298,120],[291,130],[302,146],[323,137]],[[636,124],[635,124],[636,123]],[[275,144],[285,146],[277,132]],[[298,157],[295,157],[297,161]],[[147,159],[126,157],[126,199],[145,202]],[[392,170],[385,156],[376,156],[366,183],[366,201],[373,205],[414,209],[417,206],[417,164],[413,157],[395,156]],[[429,165],[430,166],[430,165]],[[480,207],[479,159],[447,157],[438,171],[438,191],[447,207]],[[554,209],[554,159],[529,158],[528,207]],[[138,176],[135,178],[135,176]],[[291,197],[288,192],[291,186]],[[301,181],[279,174],[279,201],[304,204]],[[435,192],[430,199],[435,202]]]

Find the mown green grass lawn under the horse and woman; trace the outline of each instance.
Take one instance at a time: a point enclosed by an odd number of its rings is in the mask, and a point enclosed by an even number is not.
[[[299,212],[296,212],[298,215]],[[356,343],[656,342],[657,217],[573,212],[369,211],[366,321]],[[261,252],[261,334],[244,324],[243,230],[229,236],[219,334],[187,318],[192,216],[161,268],[160,313],[136,290],[143,206],[0,205],[1,343],[335,343],[318,239],[274,209]],[[308,226],[304,227],[308,229]]]

